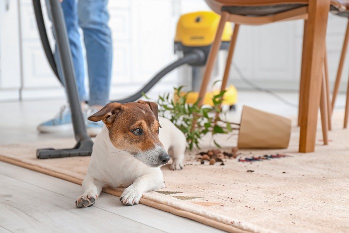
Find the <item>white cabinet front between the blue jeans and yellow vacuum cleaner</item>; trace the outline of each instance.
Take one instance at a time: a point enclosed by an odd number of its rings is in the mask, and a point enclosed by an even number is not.
[[[116,3],[114,3],[117,5]],[[111,97],[128,97],[144,86],[162,68],[177,59],[174,55],[174,33],[179,13],[174,0],[130,0],[128,21],[114,19],[110,26],[115,34],[114,65]],[[115,6],[109,6],[115,7]],[[111,18],[114,17],[111,13]],[[114,30],[122,28],[129,36],[119,36]],[[178,86],[178,71],[167,74],[148,96],[172,92]]]

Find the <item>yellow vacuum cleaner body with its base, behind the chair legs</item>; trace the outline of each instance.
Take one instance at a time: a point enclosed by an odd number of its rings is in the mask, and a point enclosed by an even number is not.
[[[198,99],[198,90],[202,82],[201,76],[215,38],[219,21],[220,15],[213,11],[184,14],[178,20],[174,39],[174,50],[183,52],[184,56],[193,50],[201,50],[205,54],[204,61],[188,63],[192,67],[192,90],[188,93],[187,103],[195,103]],[[232,25],[230,22],[227,22],[224,26],[220,50],[228,50],[232,33]],[[182,92],[181,94],[184,95],[185,93]],[[212,98],[218,93],[219,90],[206,93],[203,103],[213,106]],[[174,99],[177,99],[177,97]],[[223,99],[223,104],[229,106],[235,105],[237,102],[237,90],[233,85],[230,85],[226,89]]]

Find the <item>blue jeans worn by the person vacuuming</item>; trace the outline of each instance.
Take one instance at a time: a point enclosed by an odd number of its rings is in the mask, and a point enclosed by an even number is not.
[[[46,1],[49,17],[49,2]],[[80,101],[89,105],[105,105],[109,102],[113,47],[108,26],[108,0],[63,0],[61,3],[67,28],[76,84]],[[85,88],[85,68],[79,28],[83,31],[86,48],[89,97]],[[60,78],[62,67],[57,45],[54,58]]]

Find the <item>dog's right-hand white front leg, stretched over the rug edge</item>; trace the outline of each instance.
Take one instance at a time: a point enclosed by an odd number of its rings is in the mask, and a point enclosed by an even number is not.
[[[132,185],[127,187],[121,194],[120,201],[127,206],[138,204],[142,194],[157,189],[164,188],[164,179],[161,171],[148,173],[137,178]]]

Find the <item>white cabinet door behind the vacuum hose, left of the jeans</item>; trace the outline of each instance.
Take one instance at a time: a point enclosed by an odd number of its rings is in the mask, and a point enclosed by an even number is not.
[[[41,1],[47,34],[53,45],[51,22],[45,1]],[[46,59],[36,26],[31,0],[20,0],[20,31],[22,49],[21,96],[23,99],[46,99],[64,97],[64,89],[55,77]]]

